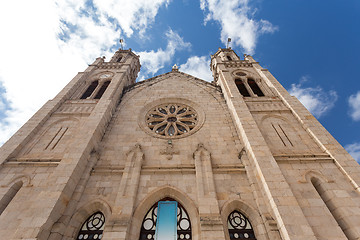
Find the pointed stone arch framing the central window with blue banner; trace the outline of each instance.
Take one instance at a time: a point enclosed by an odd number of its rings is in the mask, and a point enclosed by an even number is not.
[[[192,239],[200,240],[200,222],[197,206],[189,196],[172,186],[163,186],[155,189],[148,193],[147,196],[140,202],[133,214],[128,239],[139,239],[141,224],[144,216],[154,203],[167,197],[179,202],[185,208],[191,221]]]

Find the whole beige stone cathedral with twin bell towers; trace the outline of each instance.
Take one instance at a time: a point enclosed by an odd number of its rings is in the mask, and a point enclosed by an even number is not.
[[[0,149],[0,238],[360,239],[360,166],[252,56],[97,58]]]

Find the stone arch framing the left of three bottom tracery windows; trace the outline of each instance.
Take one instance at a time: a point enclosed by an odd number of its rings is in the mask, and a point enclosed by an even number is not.
[[[63,239],[75,239],[83,223],[96,212],[104,214],[106,227],[106,223],[112,214],[112,208],[107,201],[96,199],[78,208],[70,219]],[[106,234],[105,231],[104,234]]]

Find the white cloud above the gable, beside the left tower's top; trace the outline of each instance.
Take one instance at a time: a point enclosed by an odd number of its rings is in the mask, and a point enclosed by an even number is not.
[[[157,71],[163,68],[165,64],[172,60],[176,51],[191,47],[190,43],[185,42],[179,34],[171,29],[166,32],[165,36],[168,40],[165,50],[160,48],[156,51],[151,50],[136,52],[136,54],[140,55],[140,62],[142,66],[139,76],[140,80],[147,78],[149,75],[154,75]]]

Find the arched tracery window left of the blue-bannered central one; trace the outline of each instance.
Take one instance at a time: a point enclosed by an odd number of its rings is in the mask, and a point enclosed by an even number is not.
[[[102,212],[91,215],[81,226],[77,240],[102,239],[105,225],[105,216]]]

